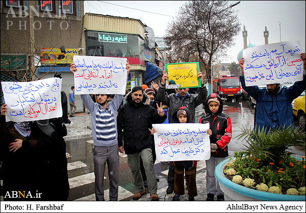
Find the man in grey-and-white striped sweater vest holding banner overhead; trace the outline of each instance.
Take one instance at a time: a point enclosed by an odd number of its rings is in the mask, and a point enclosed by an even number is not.
[[[125,64],[127,76],[131,65]],[[70,64],[70,71],[74,74],[77,67]],[[90,95],[81,95],[82,101],[90,112],[93,140],[93,163],[95,175],[95,197],[97,201],[104,201],[104,173],[107,163],[110,179],[109,196],[111,201],[118,200],[119,186],[119,154],[117,139],[117,111],[123,95],[115,95],[112,102],[109,94],[96,94],[97,103]]]

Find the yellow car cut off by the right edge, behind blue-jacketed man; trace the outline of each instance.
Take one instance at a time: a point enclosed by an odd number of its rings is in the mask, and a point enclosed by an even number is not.
[[[305,128],[305,91],[292,101],[292,113],[301,128]]]

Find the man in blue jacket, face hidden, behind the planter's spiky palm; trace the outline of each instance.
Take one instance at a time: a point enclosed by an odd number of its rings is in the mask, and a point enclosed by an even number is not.
[[[305,53],[301,54],[304,62],[305,73]],[[242,75],[240,82],[242,88],[256,100],[256,118],[255,126],[260,130],[265,127],[267,131],[270,128],[277,129],[293,124],[291,102],[297,98],[304,90],[306,85],[306,76],[303,75],[303,81],[295,82],[294,85],[282,88],[280,84],[267,84],[267,89],[259,89],[258,86],[245,86],[244,58],[239,61]]]

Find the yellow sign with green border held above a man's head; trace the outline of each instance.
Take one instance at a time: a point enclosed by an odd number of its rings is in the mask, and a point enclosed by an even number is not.
[[[166,88],[201,87],[200,78],[197,77],[199,72],[200,68],[198,62],[165,64],[165,73],[168,74]],[[174,84],[171,84],[171,82],[173,82],[171,80],[174,81]]]

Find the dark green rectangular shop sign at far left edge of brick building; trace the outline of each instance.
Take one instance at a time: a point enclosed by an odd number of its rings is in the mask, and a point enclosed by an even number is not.
[[[1,69],[27,69],[27,55],[1,55]]]

